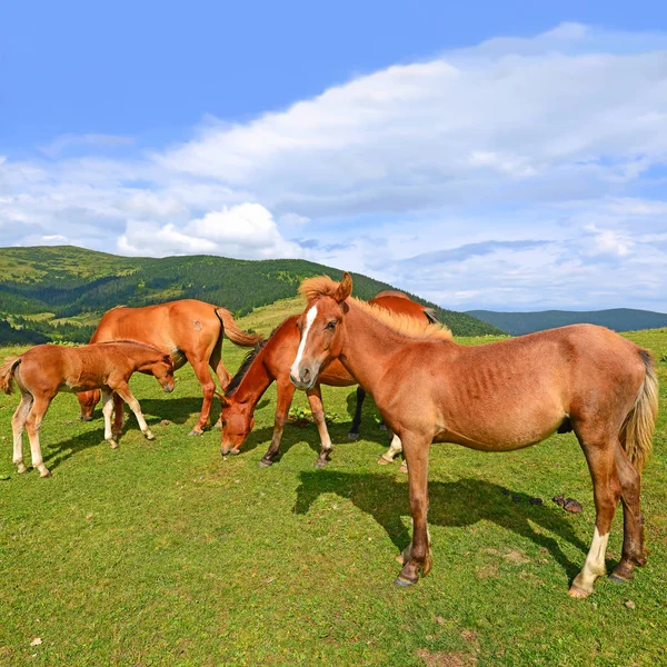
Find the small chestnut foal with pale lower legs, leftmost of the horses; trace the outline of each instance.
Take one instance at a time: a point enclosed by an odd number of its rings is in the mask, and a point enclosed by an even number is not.
[[[11,418],[13,431],[13,464],[26,472],[23,464],[23,428],[28,430],[32,467],[40,477],[51,474],[43,464],[39,429],[49,405],[60,391],[90,391],[101,389],[104,415],[104,439],[112,449],[118,447],[111,432],[111,411],[116,392],[128,401],[137,417],[141,432],[155,436],[148,428],[139,401],[132,396],[128,381],[133,372],[152,375],[165,391],[173,391],[171,357],[152,346],[133,341],[104,342],[70,348],[38,345],[20,357],[9,357],[0,368],[0,389],[11,394],[16,380],[21,390],[21,402]]]

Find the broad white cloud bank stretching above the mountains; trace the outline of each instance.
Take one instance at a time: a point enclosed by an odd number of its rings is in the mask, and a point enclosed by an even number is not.
[[[667,310],[666,178],[667,36],[565,23],[150,152],[0,157],[0,240],[307,256],[454,308]]]

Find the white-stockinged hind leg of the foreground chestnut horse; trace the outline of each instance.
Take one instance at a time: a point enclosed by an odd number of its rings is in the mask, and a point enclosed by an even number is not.
[[[584,567],[575,577],[568,593],[571,597],[585,598],[593,593],[595,580],[606,574],[605,554],[621,487],[614,452],[618,438],[587,438],[581,430],[577,431],[577,436],[593,479],[596,520],[593,541]]]

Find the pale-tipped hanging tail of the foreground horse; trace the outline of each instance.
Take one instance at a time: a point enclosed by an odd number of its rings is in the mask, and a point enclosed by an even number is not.
[[[637,399],[620,429],[620,444],[630,461],[641,472],[653,449],[653,434],[658,417],[658,377],[648,350],[640,349],[646,375]]]

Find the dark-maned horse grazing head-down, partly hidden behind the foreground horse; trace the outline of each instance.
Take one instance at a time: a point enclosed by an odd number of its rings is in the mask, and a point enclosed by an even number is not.
[[[432,309],[410,300],[402,292],[384,291],[370,301],[392,312],[404,313],[427,322],[437,322]],[[223,455],[238,454],[248,434],[252,430],[255,407],[271,382],[278,384],[278,402],[276,405],[276,418],[273,422],[273,438],[268,451],[260,460],[261,468],[270,466],[278,454],[280,439],[289,407],[295,394],[295,386],[289,380],[289,367],[299,347],[299,330],[296,327],[298,316],[287,318],[267,340],[262,340],[250,351],[237,375],[227,387],[226,396],[222,398],[222,436],[220,451]],[[331,438],[325,421],[322,396],[320,385],[331,387],[350,387],[356,380],[347,372],[340,362],[334,361],[319,377],[318,384],[307,391],[312,419],[320,436],[320,456],[316,467],[321,468],[329,461],[331,452]],[[359,425],[361,421],[361,404],[366,391],[357,388],[357,409],[355,420],[349,432],[350,439],[359,437]],[[400,451],[400,440],[392,441],[389,452],[380,457],[380,462],[389,462]]]

